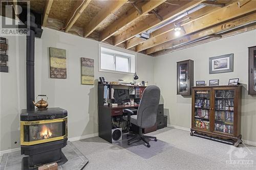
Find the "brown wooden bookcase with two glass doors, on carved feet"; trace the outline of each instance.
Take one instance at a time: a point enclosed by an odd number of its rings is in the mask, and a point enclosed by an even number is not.
[[[241,141],[241,86],[192,87],[190,135]]]

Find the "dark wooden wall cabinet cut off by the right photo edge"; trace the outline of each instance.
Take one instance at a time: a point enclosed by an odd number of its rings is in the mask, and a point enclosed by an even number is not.
[[[249,47],[248,94],[256,95],[256,46]]]

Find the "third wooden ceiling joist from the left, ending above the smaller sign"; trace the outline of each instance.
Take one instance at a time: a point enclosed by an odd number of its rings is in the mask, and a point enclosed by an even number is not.
[[[96,30],[103,21],[116,10],[118,10],[122,5],[124,5],[127,0],[119,1],[109,1],[104,8],[102,8],[99,13],[90,21],[89,25],[84,28],[84,37],[88,37],[94,30]]]

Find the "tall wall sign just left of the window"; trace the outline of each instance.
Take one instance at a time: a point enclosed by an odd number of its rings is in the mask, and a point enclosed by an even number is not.
[[[94,60],[81,57],[81,84],[94,85]]]

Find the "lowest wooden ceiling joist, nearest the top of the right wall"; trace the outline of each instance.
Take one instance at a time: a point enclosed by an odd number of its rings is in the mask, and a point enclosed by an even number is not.
[[[229,36],[232,36],[232,35],[248,32],[248,31],[255,30],[255,29],[256,29],[256,24],[253,23],[253,24],[248,25],[246,27],[241,27],[241,28],[238,28],[236,30],[228,31],[227,33],[224,33],[221,36],[222,36],[222,38],[225,38],[225,37],[229,37]],[[208,39],[205,39],[205,40],[189,43],[187,45],[184,45],[184,46],[181,46],[181,47],[177,47],[177,48],[174,48],[174,49],[161,50],[161,51],[158,51],[156,53],[153,53],[151,56],[156,57],[156,56],[172,53],[172,52],[175,52],[175,51],[178,51],[178,50],[182,50],[184,48],[188,48],[188,47],[191,47],[191,46],[207,43],[209,41],[214,41],[214,40],[217,40],[217,39],[220,39],[220,38],[218,38],[218,37],[208,38]]]

